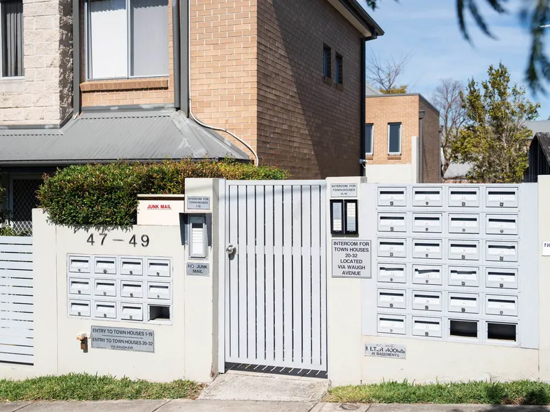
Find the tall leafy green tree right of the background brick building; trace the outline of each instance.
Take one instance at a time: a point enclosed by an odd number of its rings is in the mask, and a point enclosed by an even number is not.
[[[525,97],[525,87],[510,87],[508,69],[500,63],[487,71],[481,88],[472,78],[463,96],[466,122],[452,143],[452,160],[472,163],[467,177],[481,183],[519,183],[527,168],[532,137],[526,120],[538,116],[540,104]]]

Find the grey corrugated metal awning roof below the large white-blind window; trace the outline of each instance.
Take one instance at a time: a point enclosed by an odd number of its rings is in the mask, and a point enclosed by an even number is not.
[[[249,159],[217,133],[170,110],[89,112],[61,129],[0,130],[0,165],[223,157]]]

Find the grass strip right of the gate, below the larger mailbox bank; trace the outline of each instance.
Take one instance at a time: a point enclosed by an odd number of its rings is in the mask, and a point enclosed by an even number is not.
[[[330,389],[325,402],[434,404],[550,404],[550,385],[532,380],[415,385],[383,382]]]

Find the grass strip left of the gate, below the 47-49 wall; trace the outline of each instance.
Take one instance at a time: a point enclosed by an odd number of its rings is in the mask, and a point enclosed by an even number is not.
[[[68,374],[25,380],[0,380],[0,401],[195,399],[203,385],[191,380],[169,383],[113,376]]]

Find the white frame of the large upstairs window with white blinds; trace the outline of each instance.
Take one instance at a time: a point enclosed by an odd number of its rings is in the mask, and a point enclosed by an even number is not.
[[[85,0],[84,1],[84,58],[85,58],[85,81],[88,80],[129,80],[129,79],[146,79],[146,78],[166,78],[170,76],[170,52],[168,47],[168,73],[165,74],[148,74],[146,76],[131,76],[131,62],[132,62],[132,56],[131,56],[131,34],[132,34],[132,25],[131,25],[131,0],[126,0],[126,76],[125,77],[104,77],[104,78],[95,78],[91,77],[91,39],[89,35],[89,30],[91,29],[90,25],[90,19],[91,19],[91,12],[89,8],[89,2],[93,0]],[[168,2],[168,8],[170,7],[170,3]],[[168,10],[168,13],[170,11]],[[168,23],[169,24],[169,23]],[[166,41],[169,43],[168,32],[166,32]]]

